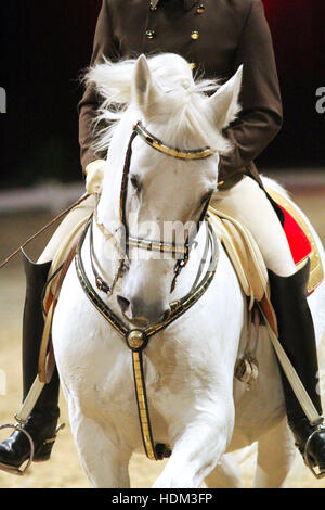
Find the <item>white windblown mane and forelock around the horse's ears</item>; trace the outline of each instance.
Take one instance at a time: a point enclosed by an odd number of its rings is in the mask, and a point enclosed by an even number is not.
[[[164,125],[165,131],[172,133],[176,146],[187,149],[190,140],[199,139],[221,154],[229,152],[230,143],[216,129],[212,114],[205,107],[207,97],[219,89],[219,80],[195,79],[188,63],[173,53],[155,55],[147,62],[155,81],[167,92],[162,105],[165,115],[151,122]],[[93,85],[103,98],[93,119],[96,152],[107,151],[117,123],[134,102],[135,63],[136,60],[118,63],[104,60],[86,75],[86,82]]]

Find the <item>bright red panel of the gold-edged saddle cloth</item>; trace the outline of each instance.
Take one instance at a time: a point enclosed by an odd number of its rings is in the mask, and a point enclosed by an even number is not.
[[[282,205],[277,204],[285,215],[284,231],[286,233],[295,264],[299,264],[312,252],[307,234],[296,219]]]

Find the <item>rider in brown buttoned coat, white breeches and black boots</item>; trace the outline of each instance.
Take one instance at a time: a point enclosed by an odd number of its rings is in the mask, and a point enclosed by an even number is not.
[[[173,52],[184,56],[195,73],[205,77],[232,76],[244,64],[242,112],[224,130],[233,150],[221,157],[218,208],[240,219],[259,243],[270,272],[272,303],[280,341],[322,413],[316,392],[317,355],[314,328],[306,298],[309,267],[296,270],[284,234],[281,215],[266,195],[253,160],[282,126],[282,102],[270,30],[261,0],[103,0],[91,64],[102,56],[117,61],[141,53]],[[79,103],[81,164],[87,189],[98,191],[104,161],[91,148],[91,120],[99,98],[88,86]],[[24,397],[37,374],[43,317],[41,294],[50,262],[62,239],[76,222],[91,214],[91,196],[58,227],[38,264],[25,258],[27,296],[23,330]],[[266,228],[265,228],[266,227]],[[304,451],[308,438],[318,430],[310,424],[283,375],[289,425],[297,446]],[[58,418],[58,378],[46,385],[28,422],[23,425],[36,445],[35,459],[50,457]],[[49,442],[50,439],[50,442]],[[309,442],[312,461],[325,470],[325,432]],[[27,437],[15,431],[0,444],[0,467],[17,468],[29,456]]]

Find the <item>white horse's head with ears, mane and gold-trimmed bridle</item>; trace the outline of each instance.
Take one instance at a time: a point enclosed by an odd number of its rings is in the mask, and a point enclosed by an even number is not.
[[[98,119],[118,120],[96,142],[109,145],[99,215],[127,231],[117,302],[129,321],[146,326],[169,314],[176,267],[217,189],[220,155],[231,150],[222,130],[239,111],[242,67],[220,86],[195,81],[179,55],[141,55],[99,64],[88,79],[105,98]],[[129,141],[134,126],[140,136]]]

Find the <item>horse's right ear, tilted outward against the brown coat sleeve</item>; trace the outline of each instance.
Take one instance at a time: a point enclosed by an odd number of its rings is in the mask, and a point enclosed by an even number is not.
[[[243,81],[243,65],[238,68],[236,74],[224,85],[217,90],[217,92],[208,99],[210,107],[213,111],[214,124],[218,130],[227,127],[240,111],[238,97]]]

